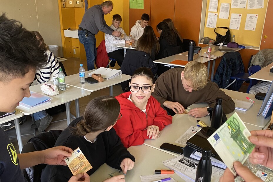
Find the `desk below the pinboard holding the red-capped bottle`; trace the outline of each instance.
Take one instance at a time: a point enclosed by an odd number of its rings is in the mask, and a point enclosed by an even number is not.
[[[212,45],[212,52],[211,52],[211,55],[214,55],[214,56],[220,56],[222,57],[225,53],[227,53],[228,51],[219,51],[219,46],[216,46],[216,45]],[[232,47],[227,47],[227,46],[222,46],[222,49],[232,49],[234,51],[239,51],[241,50],[242,48],[232,48]],[[205,52],[208,51],[208,46],[206,47],[202,47],[201,51],[200,51],[200,54],[204,54]],[[179,53],[180,55],[186,55],[188,56],[188,53],[189,51],[186,51],[186,52],[182,52],[182,53]],[[213,77],[214,77],[214,67],[215,67],[215,60],[217,58],[214,58],[214,59],[211,59],[212,60],[212,73],[211,73],[211,81],[213,80]],[[208,62],[208,68],[209,68],[209,64],[210,62]],[[209,72],[209,69],[208,69],[208,72]]]

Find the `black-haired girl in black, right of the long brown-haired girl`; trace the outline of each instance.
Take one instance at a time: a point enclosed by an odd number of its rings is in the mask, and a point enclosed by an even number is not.
[[[171,34],[169,26],[166,22],[162,21],[159,24],[157,24],[157,32],[160,34],[159,37],[160,50],[155,58],[156,60],[165,57],[164,50],[166,48],[177,46],[176,35]]]

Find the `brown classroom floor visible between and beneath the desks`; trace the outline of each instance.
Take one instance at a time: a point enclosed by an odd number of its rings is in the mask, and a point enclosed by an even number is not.
[[[86,61],[80,61],[78,58],[67,58],[67,60],[62,61],[62,63],[64,65],[64,68],[65,68],[65,71],[66,71],[67,75],[72,75],[72,74],[79,73],[79,67],[80,67],[79,65],[80,64],[83,64],[85,70],[87,70]],[[119,69],[119,68],[120,67],[117,64],[114,67],[114,69]],[[113,90],[114,90],[114,96],[117,96],[117,95],[122,93],[122,90],[121,90],[121,87],[120,87],[119,84],[113,86]],[[246,93],[247,86],[243,85],[239,91]],[[105,88],[105,89],[101,89],[99,91],[92,92],[91,95],[80,98],[79,99],[80,115],[81,116],[83,115],[87,103],[92,98],[95,98],[95,97],[101,96],[101,95],[109,95],[109,88]],[[71,102],[70,111],[71,111],[71,114],[76,116],[75,101]],[[58,121],[58,120],[62,120],[62,119],[64,119],[64,121],[59,121],[59,122],[54,123],[54,121]],[[72,118],[72,121],[73,121],[73,119],[74,118]],[[30,138],[32,138],[34,136],[34,134],[33,134],[34,130],[30,128],[31,124],[32,124],[31,116],[27,116],[26,122],[24,122],[20,126],[23,144],[25,144]],[[62,112],[62,113],[53,115],[53,120],[49,124],[46,131],[49,131],[49,130],[64,130],[66,127],[67,127],[66,112]],[[15,128],[7,131],[6,133],[8,134],[8,136],[14,136],[14,137],[10,138],[10,141],[13,143],[16,151],[18,152],[19,147],[18,147],[18,143],[17,143]],[[40,132],[38,132],[36,130],[36,134],[38,134],[38,133],[40,133]],[[27,135],[27,134],[30,134],[30,135]],[[24,136],[24,135],[27,135],[27,136]]]

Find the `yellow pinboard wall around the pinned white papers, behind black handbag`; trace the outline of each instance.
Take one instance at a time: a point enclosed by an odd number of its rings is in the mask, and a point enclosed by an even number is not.
[[[219,0],[218,1],[218,9],[217,12],[217,24],[216,27],[229,27],[230,17],[232,13],[236,14],[242,14],[241,18],[241,24],[239,30],[230,29],[231,36],[235,35],[235,40],[238,44],[248,44],[251,46],[259,47],[260,41],[261,41],[261,35],[262,35],[262,29],[264,25],[264,18],[266,13],[266,7],[267,7],[267,1],[264,0],[264,8],[261,9],[245,9],[242,8],[230,8],[229,10],[229,18],[228,19],[219,19],[219,12],[220,12],[220,6],[221,3],[230,3],[231,0]],[[214,28],[207,28],[207,18],[208,18],[208,10],[209,10],[209,0],[207,1],[207,11],[206,11],[206,20],[205,20],[205,28],[204,28],[204,37],[210,37],[215,40],[216,34],[214,33]],[[247,14],[258,14],[258,20],[256,25],[256,30],[244,30]],[[223,29],[223,31],[220,31],[217,29],[217,32],[224,35],[226,32],[226,29]]]

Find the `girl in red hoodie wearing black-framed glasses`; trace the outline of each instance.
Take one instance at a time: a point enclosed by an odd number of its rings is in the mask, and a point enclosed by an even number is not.
[[[145,139],[157,139],[172,116],[151,96],[154,91],[154,76],[150,69],[139,68],[129,83],[131,92],[116,96],[120,103],[122,118],[114,125],[117,135],[126,148],[141,145]]]

